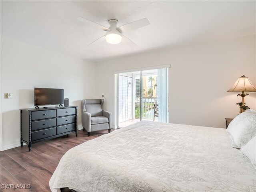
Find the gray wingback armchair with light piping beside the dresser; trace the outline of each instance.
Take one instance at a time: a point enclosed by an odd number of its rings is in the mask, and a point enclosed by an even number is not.
[[[111,112],[104,110],[104,99],[82,100],[82,124],[88,132],[108,129],[111,130]]]

